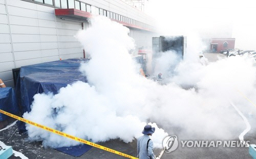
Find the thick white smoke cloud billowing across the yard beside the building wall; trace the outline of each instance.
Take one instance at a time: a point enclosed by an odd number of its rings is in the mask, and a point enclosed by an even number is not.
[[[81,65],[89,82],[68,85],[56,95],[35,95],[32,110],[24,118],[93,142],[117,138],[131,142],[152,122],[156,147],[167,133],[178,132],[178,136],[190,139],[225,139],[240,134],[243,120],[229,101],[243,107],[244,112],[254,111],[236,92],[239,89],[249,98],[256,95],[253,61],[231,57],[208,65],[196,60],[176,65],[167,62],[174,71],[168,67],[163,71],[173,74],[167,84],[159,85],[139,74],[139,66],[129,54],[134,48],[127,35],[129,29],[103,17],[93,18],[91,23],[91,28],[77,34],[92,58]],[[182,85],[193,88],[182,89]],[[31,125],[27,129],[31,139],[43,140],[46,146],[79,144]]]

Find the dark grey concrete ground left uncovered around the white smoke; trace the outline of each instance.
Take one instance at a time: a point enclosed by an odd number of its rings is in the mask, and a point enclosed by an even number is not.
[[[225,58],[224,55],[218,53],[204,53],[204,56],[208,59],[209,62],[217,61],[218,58]],[[13,120],[14,121],[14,120]],[[164,127],[163,127],[164,128]],[[256,128],[253,127],[248,134],[245,136],[245,140],[249,140],[251,144],[256,143]],[[174,135],[178,136],[179,140],[185,140],[185,137],[182,137],[179,134],[179,128],[165,129],[168,133],[173,132]],[[92,148],[87,153],[84,153],[80,157],[73,157],[65,153],[59,152],[53,148],[44,148],[40,141],[30,142],[27,140],[27,134],[19,135],[16,125],[13,125],[5,130],[0,130],[0,141],[5,145],[12,146],[13,150],[18,151],[24,154],[27,158],[124,158],[114,153],[103,151],[98,148]],[[232,139],[238,140],[238,139]],[[111,140],[104,143],[98,143],[99,145],[115,149],[117,151],[136,156],[137,151],[137,141],[134,140],[132,143],[124,143],[118,139]],[[155,154],[158,154],[161,150],[155,149]],[[26,158],[18,157],[12,155],[10,158]],[[162,158],[252,158],[248,153],[248,148],[182,148],[181,144],[179,147],[171,152],[164,153]]]

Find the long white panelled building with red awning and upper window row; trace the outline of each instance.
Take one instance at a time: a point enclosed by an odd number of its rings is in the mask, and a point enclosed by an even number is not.
[[[14,68],[86,58],[74,35],[89,27],[92,14],[127,26],[135,52],[152,47],[154,20],[121,0],[0,0],[0,78],[13,87]]]

